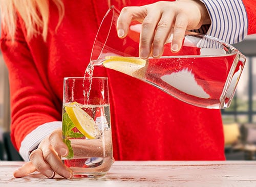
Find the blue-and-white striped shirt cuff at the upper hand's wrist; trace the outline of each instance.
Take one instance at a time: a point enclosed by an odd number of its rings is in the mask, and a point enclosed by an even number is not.
[[[248,19],[242,0],[200,0],[205,4],[211,25],[206,34],[233,44],[247,35]]]

